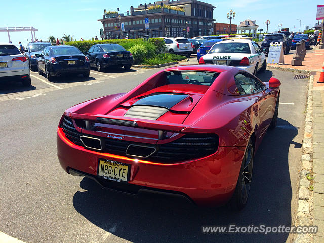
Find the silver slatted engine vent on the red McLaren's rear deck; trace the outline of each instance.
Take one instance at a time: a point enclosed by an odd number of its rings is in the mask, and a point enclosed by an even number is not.
[[[136,105],[132,106],[124,117],[133,117],[147,120],[157,120],[164,115],[168,109],[155,106]]]

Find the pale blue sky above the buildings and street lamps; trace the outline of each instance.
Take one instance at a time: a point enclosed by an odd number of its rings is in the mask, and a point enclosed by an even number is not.
[[[145,2],[145,0],[143,0]],[[147,3],[153,0],[146,0]],[[324,4],[320,1],[304,0],[200,0],[216,7],[213,18],[219,23],[229,23],[227,12],[231,9],[236,13],[232,24],[239,24],[249,18],[256,20],[259,29],[266,31],[265,21],[270,20],[269,32],[281,28],[290,31],[299,31],[300,22],[309,28],[315,25],[317,5]],[[33,26],[36,38],[46,40],[50,35],[61,38],[63,34],[73,35],[76,40],[80,38],[91,39],[99,37],[99,29],[103,28],[98,19],[102,19],[103,11],[117,10],[124,13],[130,6],[137,7],[140,0],[1,0],[0,28]],[[297,20],[300,19],[301,21]],[[18,44],[21,41],[27,44],[31,40],[30,32],[11,32],[11,41]],[[8,42],[7,32],[0,32],[0,42]]]

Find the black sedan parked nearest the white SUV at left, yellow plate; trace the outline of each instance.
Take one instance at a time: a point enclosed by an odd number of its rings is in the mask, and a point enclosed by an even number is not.
[[[89,58],[73,46],[48,46],[38,56],[39,74],[45,73],[48,80],[64,74],[90,75]]]

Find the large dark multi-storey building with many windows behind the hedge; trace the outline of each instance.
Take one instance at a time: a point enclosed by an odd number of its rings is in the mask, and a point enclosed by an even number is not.
[[[160,8],[156,8],[158,6]],[[128,14],[104,14],[98,21],[103,24],[106,39],[141,38],[147,34],[150,37],[194,37],[212,34],[214,8],[198,0],[163,0],[147,6],[140,4],[137,8],[131,6]],[[145,29],[145,18],[149,19],[148,30]],[[124,23],[123,32],[120,23]]]

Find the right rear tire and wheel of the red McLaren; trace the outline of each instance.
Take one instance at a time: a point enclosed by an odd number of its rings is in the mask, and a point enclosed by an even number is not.
[[[232,210],[241,210],[247,204],[252,181],[253,158],[254,149],[250,139],[242,159],[234,193],[229,201],[229,206]]]

